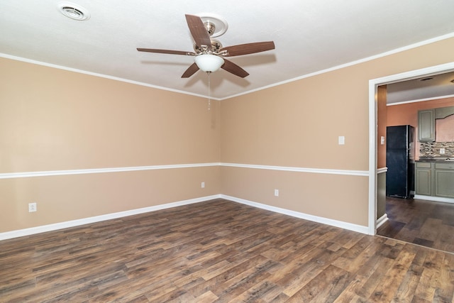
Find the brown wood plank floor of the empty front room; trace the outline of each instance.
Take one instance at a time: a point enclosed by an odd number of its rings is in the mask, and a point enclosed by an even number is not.
[[[216,199],[0,241],[0,302],[453,302],[454,255]]]

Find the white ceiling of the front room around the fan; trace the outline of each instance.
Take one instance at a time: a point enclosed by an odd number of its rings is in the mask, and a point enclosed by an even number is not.
[[[136,48],[192,51],[185,13],[225,18],[223,46],[273,40],[275,50],[230,58],[248,77],[211,75],[218,99],[454,36],[452,0],[72,0],[89,11],[87,21],[63,16],[60,2],[1,0],[0,53],[206,96],[204,72],[181,78],[193,57]]]

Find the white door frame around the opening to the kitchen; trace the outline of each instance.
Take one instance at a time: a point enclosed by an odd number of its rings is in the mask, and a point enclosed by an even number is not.
[[[453,72],[454,62],[369,80],[369,211],[368,233],[377,233],[377,87],[380,85]]]

